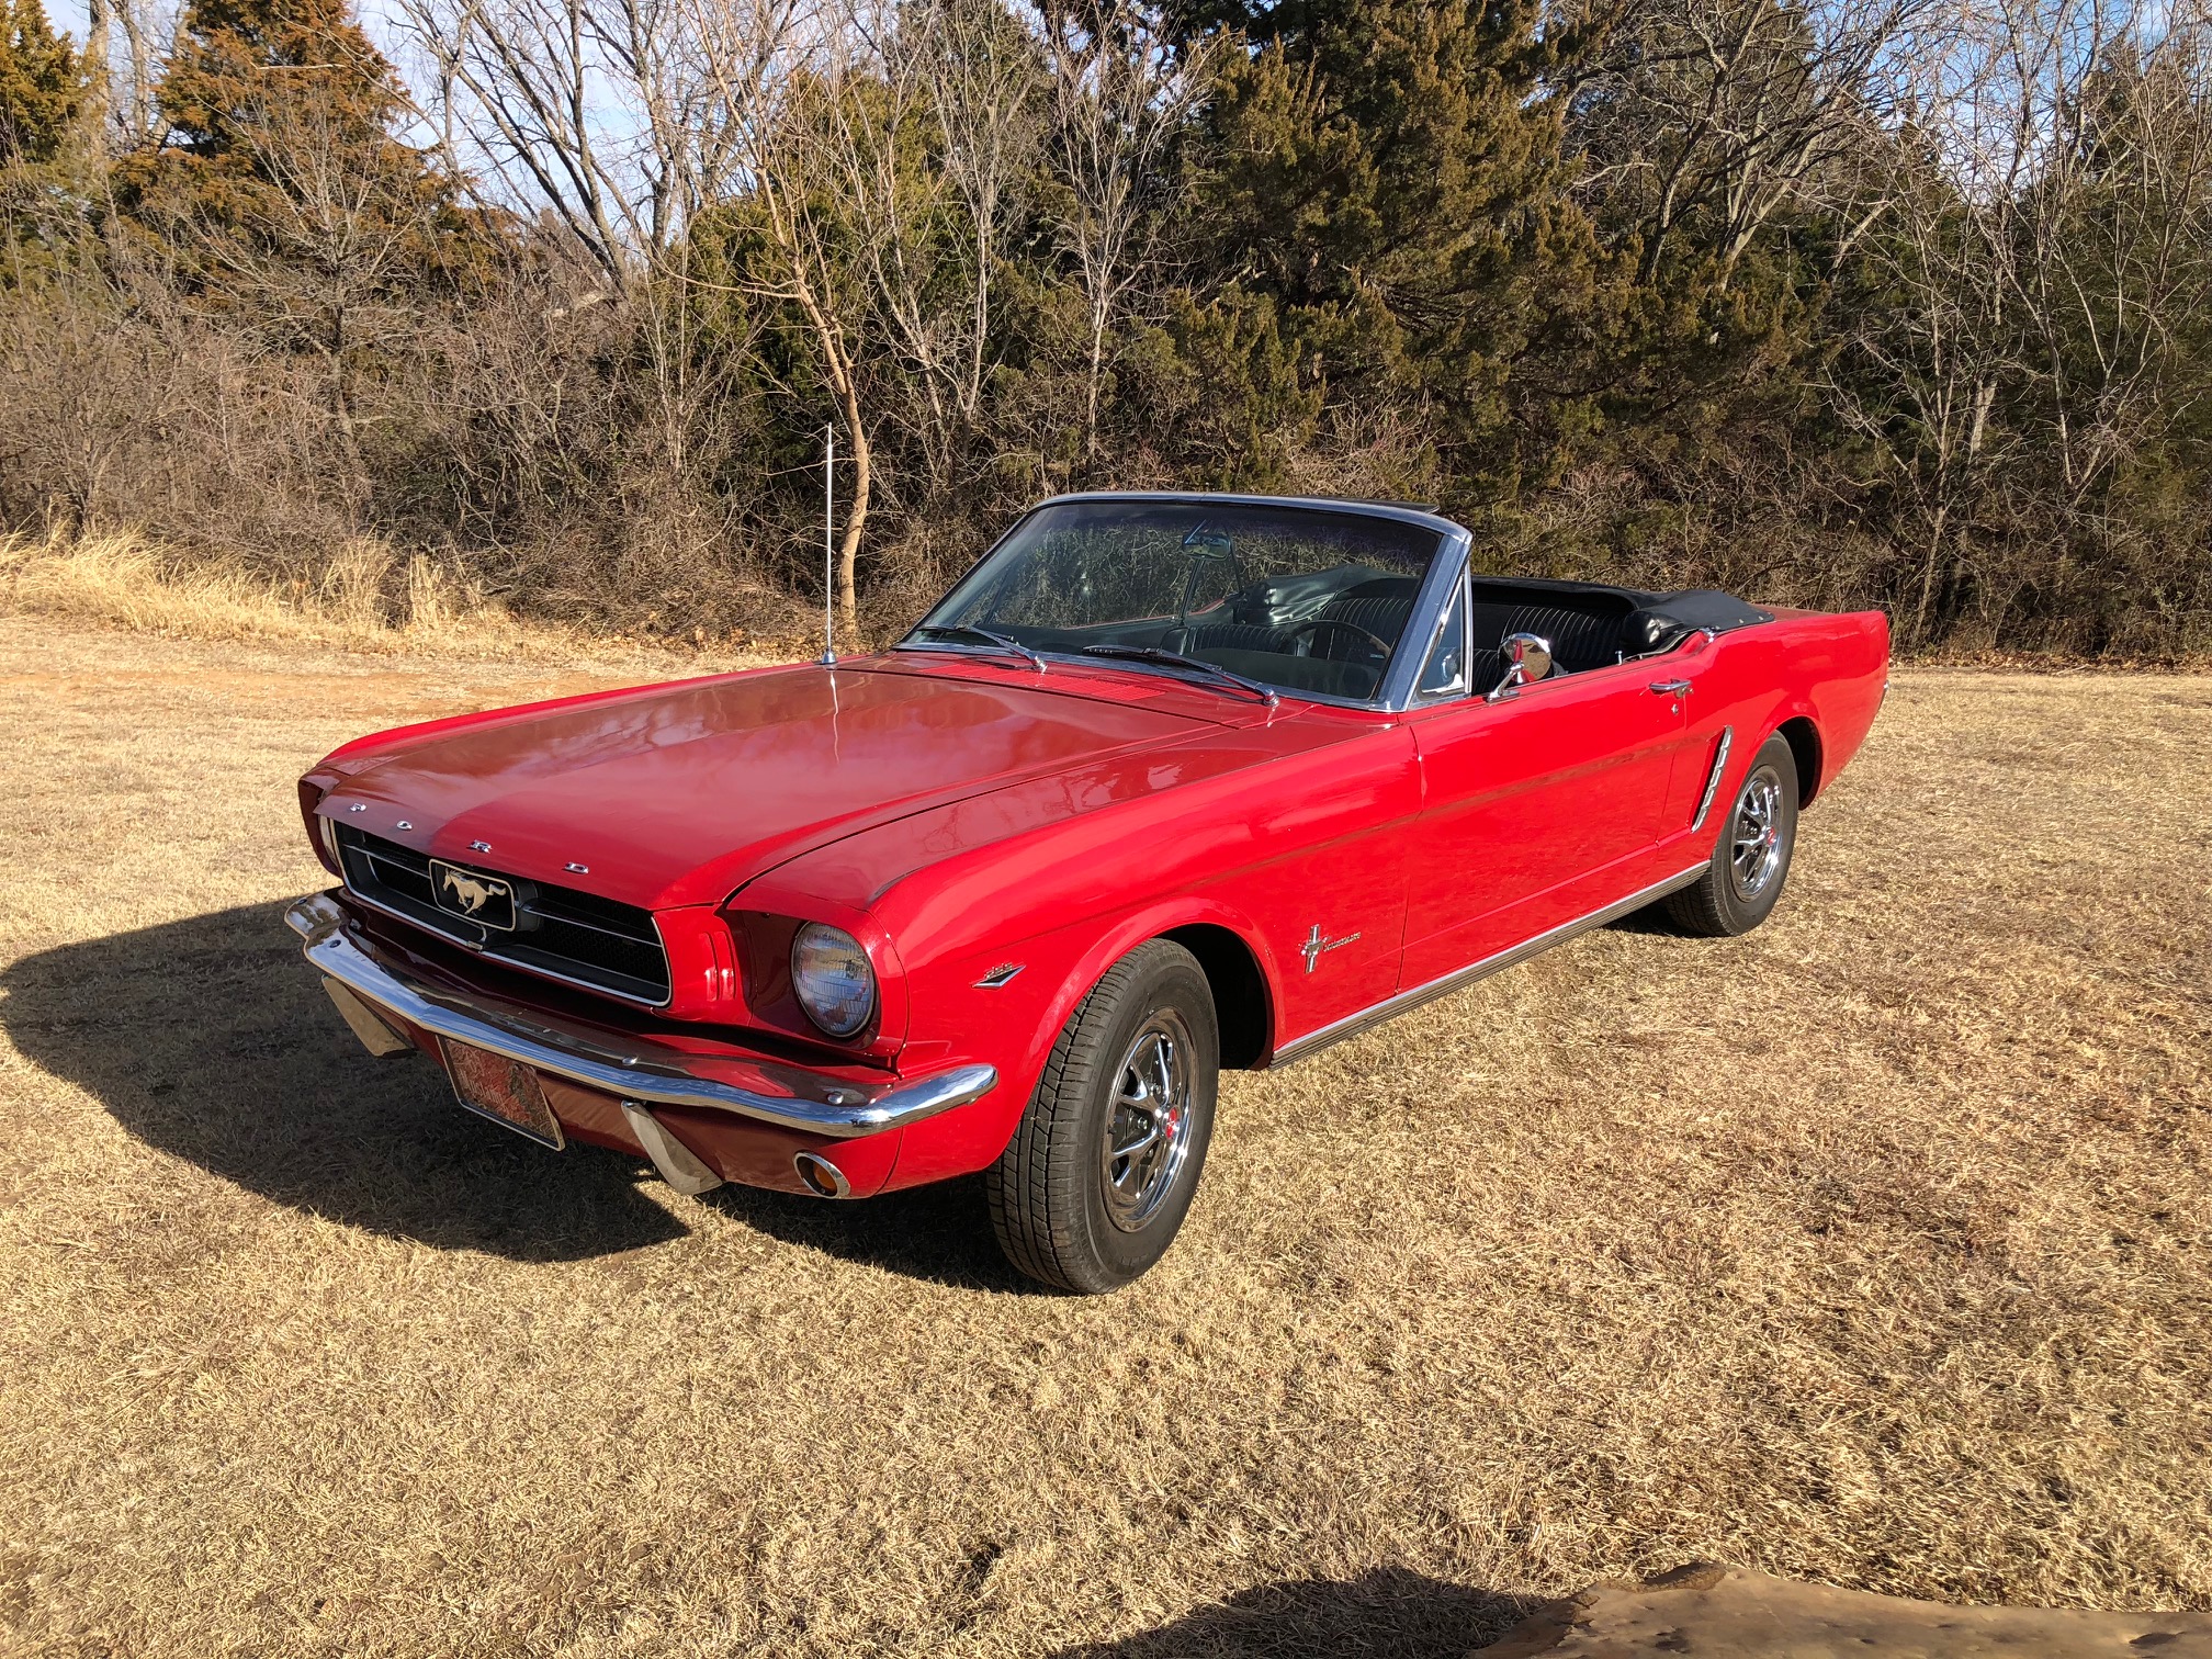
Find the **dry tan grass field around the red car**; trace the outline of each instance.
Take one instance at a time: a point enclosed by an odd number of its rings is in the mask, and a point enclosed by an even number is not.
[[[358,1051],[299,770],[591,684],[0,617],[0,1652],[1460,1655],[1741,1562],[2212,1606],[2212,679],[1907,672],[1734,942],[1230,1077],[1168,1261]]]

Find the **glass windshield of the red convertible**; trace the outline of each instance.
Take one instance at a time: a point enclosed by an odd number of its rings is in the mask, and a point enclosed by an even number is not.
[[[1325,507],[1064,502],[1022,520],[909,641],[984,653],[998,635],[1044,655],[1106,646],[1124,661],[1172,653],[1367,701],[1438,546],[1418,524]]]

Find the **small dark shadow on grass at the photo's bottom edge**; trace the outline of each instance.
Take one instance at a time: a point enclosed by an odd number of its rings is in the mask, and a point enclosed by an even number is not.
[[[1540,1606],[1533,1597],[1385,1566],[1356,1579],[1287,1579],[1239,1590],[1157,1630],[1060,1648],[1053,1659],[1460,1659]]]

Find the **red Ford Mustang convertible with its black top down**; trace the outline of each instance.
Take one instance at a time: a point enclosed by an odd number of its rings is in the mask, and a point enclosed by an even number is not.
[[[1221,1066],[1644,907],[1765,920],[1887,657],[1878,613],[1478,575],[1409,507],[1066,495],[889,650],[347,743],[290,920],[374,1053],[549,1148],[980,1170],[1015,1267],[1102,1292]]]

